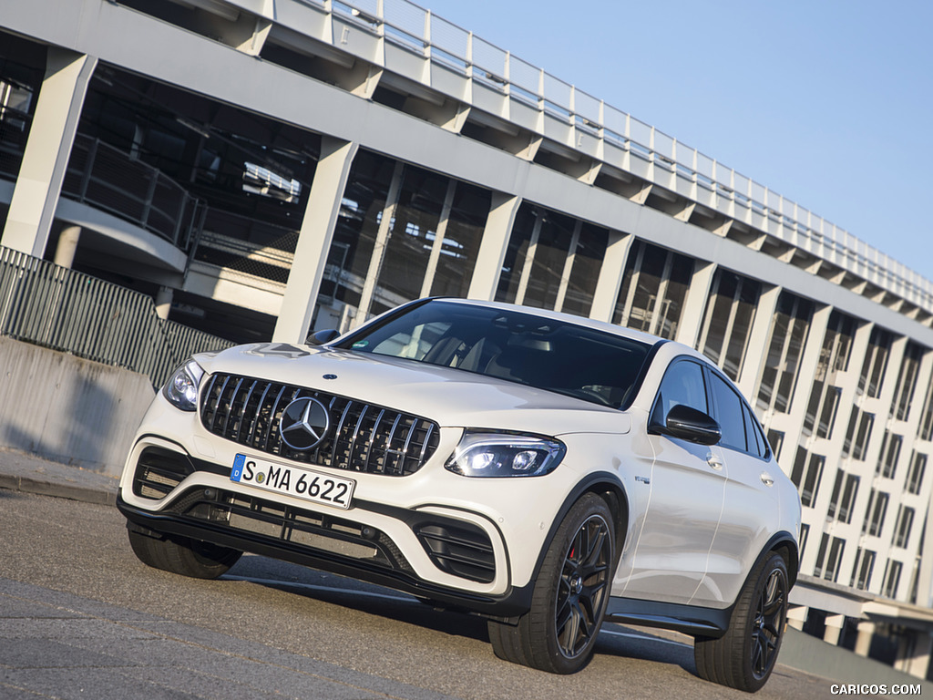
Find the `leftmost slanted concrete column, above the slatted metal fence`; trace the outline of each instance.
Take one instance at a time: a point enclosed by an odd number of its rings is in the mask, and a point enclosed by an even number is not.
[[[50,47],[0,244],[41,258],[97,59]]]

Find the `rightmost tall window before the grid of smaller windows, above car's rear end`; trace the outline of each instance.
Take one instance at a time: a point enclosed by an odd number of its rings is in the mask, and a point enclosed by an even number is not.
[[[777,301],[756,402],[759,415],[769,409],[778,413],[789,411],[812,315],[812,301],[787,292]]]

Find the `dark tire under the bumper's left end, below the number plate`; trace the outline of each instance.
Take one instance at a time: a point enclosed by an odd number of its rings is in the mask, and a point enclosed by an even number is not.
[[[130,546],[143,564],[194,579],[216,579],[230,570],[242,552],[197,539],[160,539],[158,535],[127,530]]]

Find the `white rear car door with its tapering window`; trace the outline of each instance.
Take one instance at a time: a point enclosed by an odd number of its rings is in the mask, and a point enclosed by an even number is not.
[[[721,607],[738,595],[767,539],[779,529],[773,477],[780,468],[771,458],[758,421],[731,382],[709,370],[709,387],[728,479],[707,574],[691,603]]]

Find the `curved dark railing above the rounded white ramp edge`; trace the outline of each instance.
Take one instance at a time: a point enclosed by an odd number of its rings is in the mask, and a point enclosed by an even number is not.
[[[77,134],[62,185],[68,199],[88,203],[187,250],[203,203],[158,168],[100,139]]]

